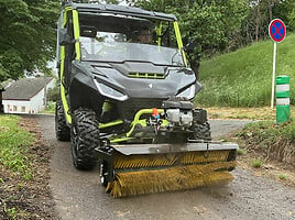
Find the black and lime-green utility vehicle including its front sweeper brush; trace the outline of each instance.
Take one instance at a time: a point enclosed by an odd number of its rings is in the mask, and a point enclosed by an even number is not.
[[[140,35],[151,34],[149,42]],[[74,166],[100,167],[114,197],[230,180],[234,143],[212,142],[201,85],[173,14],[66,3],[58,20],[56,136]]]

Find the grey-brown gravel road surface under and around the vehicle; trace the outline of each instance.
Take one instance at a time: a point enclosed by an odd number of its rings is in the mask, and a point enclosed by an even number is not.
[[[295,220],[295,189],[237,168],[228,186],[114,199],[105,193],[98,170],[79,172],[70,160],[69,142],[58,142],[54,117],[37,117],[45,141],[55,147],[51,180],[62,220],[91,219],[247,219]],[[212,134],[223,135],[247,121],[211,121]]]

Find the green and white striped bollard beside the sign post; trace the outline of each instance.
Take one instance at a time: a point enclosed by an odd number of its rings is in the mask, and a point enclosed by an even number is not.
[[[289,120],[289,76],[277,76],[276,82],[276,124],[286,123]]]

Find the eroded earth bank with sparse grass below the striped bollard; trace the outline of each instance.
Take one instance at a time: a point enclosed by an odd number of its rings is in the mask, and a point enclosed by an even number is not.
[[[259,121],[245,125],[236,134],[240,145],[238,162],[256,175],[267,176],[284,185],[295,186],[295,117],[276,125]]]

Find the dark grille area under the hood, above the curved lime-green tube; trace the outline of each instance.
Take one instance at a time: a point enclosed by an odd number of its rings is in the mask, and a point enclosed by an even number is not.
[[[123,119],[133,120],[141,109],[161,108],[163,99],[132,99],[121,103],[120,114]]]

